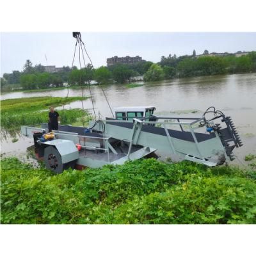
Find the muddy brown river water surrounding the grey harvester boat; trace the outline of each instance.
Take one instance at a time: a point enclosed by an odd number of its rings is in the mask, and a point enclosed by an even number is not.
[[[139,82],[143,84],[143,82]],[[92,97],[97,115],[111,116],[104,94],[99,86],[92,86]],[[205,109],[215,106],[225,115],[232,116],[237,131],[244,143],[235,151],[239,159],[246,154],[256,154],[256,73],[225,76],[205,76],[172,79],[143,86],[127,88],[125,85],[112,84],[104,87],[104,92],[113,108],[118,106],[156,107],[156,115],[164,116],[202,116]],[[69,96],[81,96],[81,90],[69,90]],[[1,99],[20,97],[65,97],[67,89],[49,92],[4,93]],[[89,96],[88,90],[85,95]],[[82,108],[81,101],[72,102],[66,108]],[[84,108],[91,109],[90,99],[84,100]],[[46,120],[46,118],[45,118]],[[8,143],[9,142],[9,143]],[[10,138],[2,140],[2,153],[13,154],[23,151],[32,141],[21,138],[10,143]],[[243,161],[243,160],[242,160]]]

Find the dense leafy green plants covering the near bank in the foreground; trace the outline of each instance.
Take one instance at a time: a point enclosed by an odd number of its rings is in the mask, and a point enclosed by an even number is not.
[[[155,159],[53,175],[1,161],[1,223],[256,223],[256,175]]]

